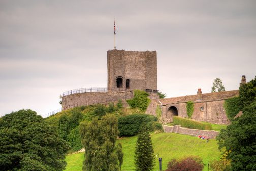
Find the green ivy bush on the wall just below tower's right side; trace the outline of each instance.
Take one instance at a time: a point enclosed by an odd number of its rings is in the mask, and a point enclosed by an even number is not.
[[[145,91],[134,90],[134,98],[126,100],[131,108],[138,107],[141,111],[145,112],[150,103],[148,98],[149,94]]]

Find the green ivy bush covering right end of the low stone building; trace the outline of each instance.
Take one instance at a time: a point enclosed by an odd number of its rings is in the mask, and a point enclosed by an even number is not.
[[[233,120],[239,110],[239,97],[233,97],[224,101],[224,108],[229,120]]]

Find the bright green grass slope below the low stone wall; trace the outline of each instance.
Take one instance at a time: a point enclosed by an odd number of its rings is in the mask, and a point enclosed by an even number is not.
[[[204,170],[207,169],[207,163],[210,160],[219,159],[221,152],[215,139],[208,143],[197,137],[181,135],[175,133],[153,133],[151,135],[155,155],[159,153],[162,157],[162,169],[165,170],[167,163],[173,158],[181,158],[187,155],[197,155],[203,159],[205,164]],[[123,147],[123,165],[122,170],[134,170],[134,151],[137,136],[127,137],[118,140]],[[84,153],[67,155],[66,170],[82,170]],[[158,158],[155,157],[156,166],[154,170],[159,170]]]

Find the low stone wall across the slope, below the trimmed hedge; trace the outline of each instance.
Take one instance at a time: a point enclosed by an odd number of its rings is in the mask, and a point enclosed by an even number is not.
[[[218,131],[214,130],[197,130],[197,129],[188,129],[185,127],[180,127],[180,125],[176,126],[167,126],[163,125],[164,132],[166,133],[179,133],[179,134],[186,134],[191,136],[206,136],[209,138],[216,138],[216,136],[219,134]]]

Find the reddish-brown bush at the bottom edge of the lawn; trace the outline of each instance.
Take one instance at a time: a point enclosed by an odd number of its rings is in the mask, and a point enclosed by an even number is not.
[[[188,156],[181,160],[172,159],[167,164],[166,171],[186,170],[186,171],[201,171],[204,168],[203,161],[198,156]]]

